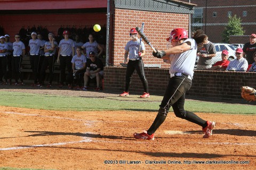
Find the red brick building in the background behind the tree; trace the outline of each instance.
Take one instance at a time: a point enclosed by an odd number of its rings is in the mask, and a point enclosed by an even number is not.
[[[230,37],[231,43],[246,43],[249,35],[255,33],[256,15],[255,0],[224,1],[224,0],[182,0],[196,4],[195,13],[191,15],[191,31],[202,29],[213,43],[221,43],[228,16],[236,15],[241,18],[241,25],[245,31],[244,36]]]

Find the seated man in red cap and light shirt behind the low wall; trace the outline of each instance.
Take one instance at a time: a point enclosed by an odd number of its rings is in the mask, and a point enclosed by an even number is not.
[[[243,57],[243,49],[236,49],[236,59],[230,61],[227,71],[246,71],[248,67],[247,60]]]

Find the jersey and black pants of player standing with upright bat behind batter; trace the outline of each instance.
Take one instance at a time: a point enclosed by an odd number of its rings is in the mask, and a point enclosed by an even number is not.
[[[129,62],[126,67],[126,75],[125,75],[125,91],[129,92],[129,88],[131,86],[131,79],[134,70],[139,74],[140,80],[142,81],[144,92],[148,93],[148,81],[144,72],[144,64],[142,62],[142,58],[138,56],[140,49],[140,40],[136,41],[130,40],[126,44],[125,50],[129,51]],[[141,51],[145,50],[145,45],[141,41]]]

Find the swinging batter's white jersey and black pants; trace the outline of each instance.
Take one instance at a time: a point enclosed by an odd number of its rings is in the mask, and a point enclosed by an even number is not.
[[[170,80],[167,85],[162,103],[158,110],[155,121],[148,129],[148,134],[151,135],[164,122],[169,109],[172,107],[174,114],[177,117],[183,118],[190,122],[205,126],[206,121],[198,117],[192,112],[185,111],[185,94],[190,89],[194,74],[194,65],[196,61],[197,45],[196,41],[188,38],[183,43],[189,41],[191,47],[186,52],[170,55]]]

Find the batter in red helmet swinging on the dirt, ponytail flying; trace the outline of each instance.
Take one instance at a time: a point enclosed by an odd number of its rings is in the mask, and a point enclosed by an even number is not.
[[[204,138],[209,138],[215,122],[204,121],[192,112],[185,111],[185,94],[190,89],[194,74],[197,46],[203,46],[207,36],[201,30],[195,32],[193,38],[188,38],[188,32],[183,28],[177,28],[171,31],[170,37],[173,47],[154,53],[153,56],[170,60],[170,80],[167,85],[162,103],[158,110],[155,121],[147,131],[134,133],[135,139],[154,140],[154,133],[165,121],[165,118],[172,107],[177,117],[183,118],[189,122],[202,126]]]

